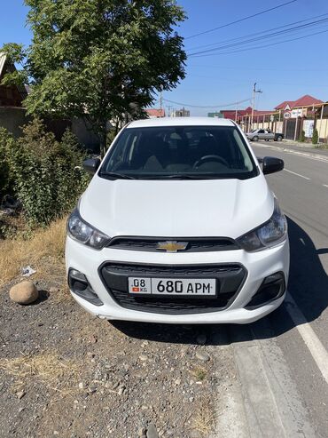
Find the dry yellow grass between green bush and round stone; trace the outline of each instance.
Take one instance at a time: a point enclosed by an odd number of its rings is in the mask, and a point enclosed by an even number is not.
[[[46,278],[60,288],[65,279],[65,235],[66,219],[58,219],[46,229],[35,230],[28,240],[19,237],[0,241],[0,287],[30,265],[36,270],[33,280]]]

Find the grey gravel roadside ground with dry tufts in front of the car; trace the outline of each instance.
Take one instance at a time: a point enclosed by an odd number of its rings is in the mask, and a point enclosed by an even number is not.
[[[233,378],[229,348],[213,354],[213,328],[109,323],[52,291],[58,283],[36,283],[30,306],[11,301],[10,284],[0,291],[1,437],[213,433]]]

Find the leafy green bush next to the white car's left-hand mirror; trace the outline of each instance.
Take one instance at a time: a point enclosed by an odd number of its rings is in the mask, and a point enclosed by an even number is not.
[[[13,189],[31,226],[48,225],[73,208],[89,182],[79,169],[84,154],[70,131],[60,141],[35,119],[23,135],[7,144],[6,161]]]

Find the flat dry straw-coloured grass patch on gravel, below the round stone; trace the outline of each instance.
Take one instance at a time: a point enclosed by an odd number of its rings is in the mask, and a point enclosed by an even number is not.
[[[2,359],[0,370],[15,379],[16,389],[28,384],[31,378],[59,391],[71,394],[77,388],[81,367],[77,362],[59,357],[56,351],[42,354],[22,355],[12,359]]]

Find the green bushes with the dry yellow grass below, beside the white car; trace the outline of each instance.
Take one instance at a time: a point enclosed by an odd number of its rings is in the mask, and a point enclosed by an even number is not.
[[[70,131],[57,140],[39,119],[22,132],[0,130],[0,287],[31,266],[35,281],[63,290],[66,216],[90,180],[85,152]]]

